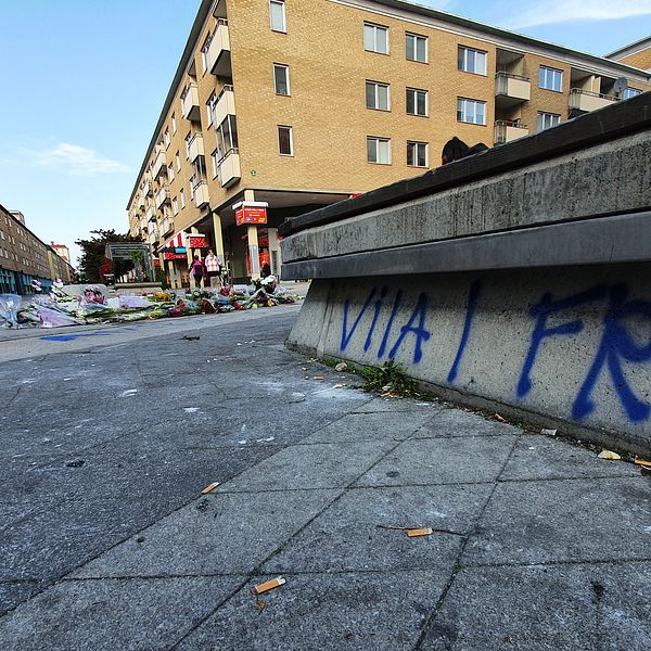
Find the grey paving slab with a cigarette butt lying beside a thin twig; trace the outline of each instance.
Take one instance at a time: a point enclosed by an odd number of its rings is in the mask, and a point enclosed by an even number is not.
[[[463,538],[409,538],[379,525],[472,531],[490,487],[359,488],[347,492],[264,566],[265,572],[451,567]]]

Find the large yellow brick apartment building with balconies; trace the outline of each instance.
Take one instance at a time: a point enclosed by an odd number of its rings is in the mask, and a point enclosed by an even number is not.
[[[399,0],[204,0],[130,232],[173,286],[208,246],[234,279],[276,272],[286,217],[436,167],[452,136],[499,145],[649,90],[631,63]],[[241,202],[267,222],[238,226]]]

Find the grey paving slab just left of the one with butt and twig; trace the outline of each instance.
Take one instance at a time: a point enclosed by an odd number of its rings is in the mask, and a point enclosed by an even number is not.
[[[224,494],[163,518],[76,577],[248,573],[326,508],[337,490]]]

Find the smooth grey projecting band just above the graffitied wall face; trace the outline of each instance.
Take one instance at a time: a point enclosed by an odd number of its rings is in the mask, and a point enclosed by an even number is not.
[[[651,212],[283,265],[284,278],[438,273],[651,260]]]

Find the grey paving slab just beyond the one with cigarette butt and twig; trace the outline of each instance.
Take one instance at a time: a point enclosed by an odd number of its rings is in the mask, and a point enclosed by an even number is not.
[[[406,486],[495,481],[516,438],[420,438],[403,442],[358,486]]]

